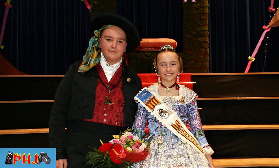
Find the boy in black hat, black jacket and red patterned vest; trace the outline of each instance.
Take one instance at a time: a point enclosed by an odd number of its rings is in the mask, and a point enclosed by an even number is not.
[[[83,60],[69,67],[56,94],[49,120],[49,143],[56,168],[86,167],[85,154],[131,127],[141,89],[138,75],[124,62],[141,39],[126,18],[101,13],[91,21],[92,38]],[[67,128],[67,131],[65,130]]]

